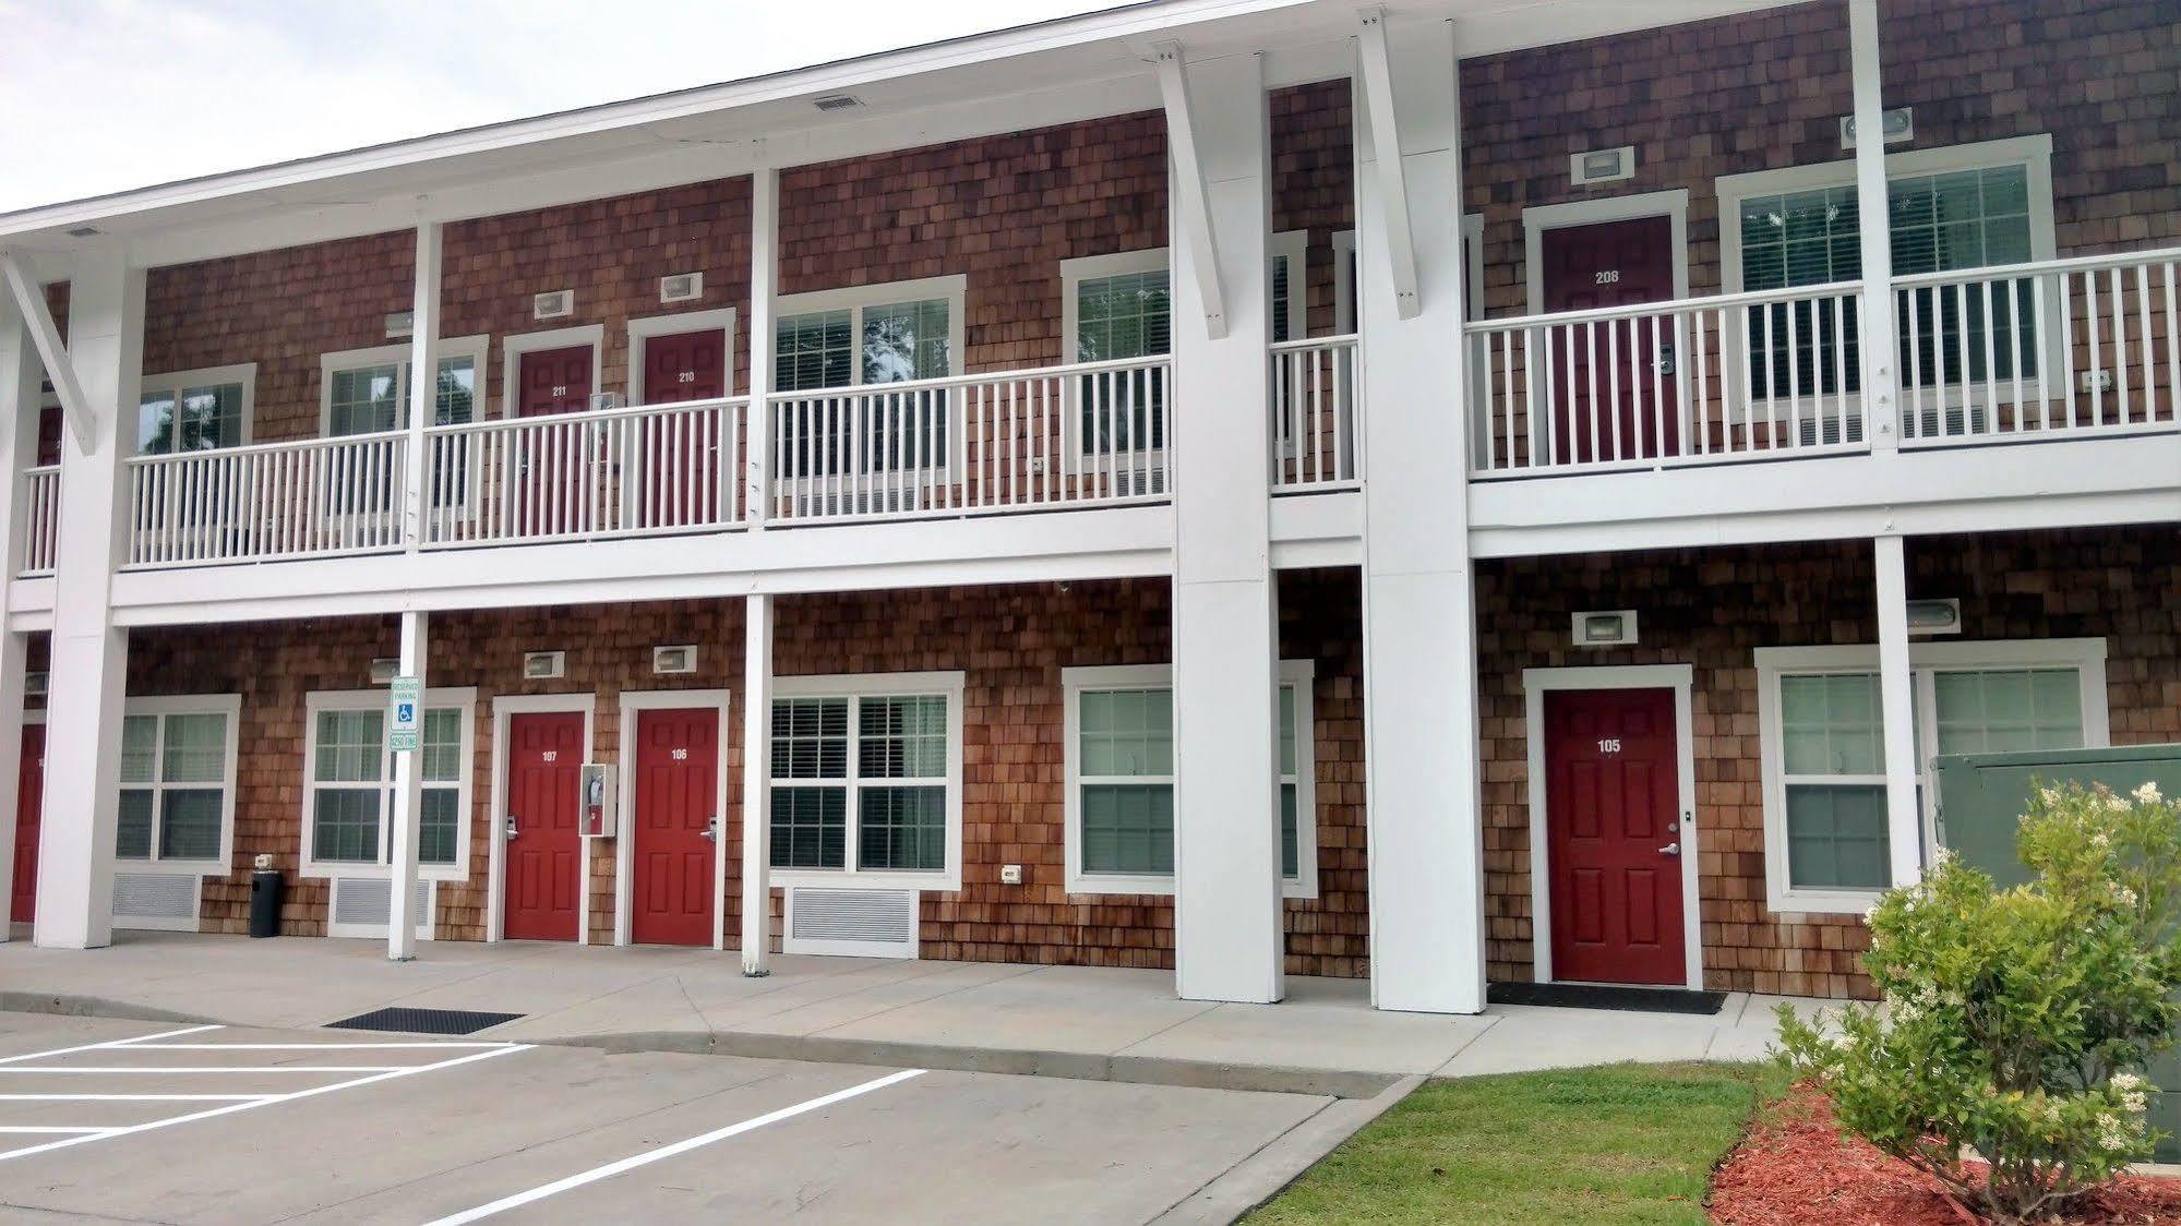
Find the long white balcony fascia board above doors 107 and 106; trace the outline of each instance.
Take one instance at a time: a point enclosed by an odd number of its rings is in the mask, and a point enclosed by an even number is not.
[[[1162,504],[122,572],[124,626],[606,600],[1143,578],[1173,569]]]

